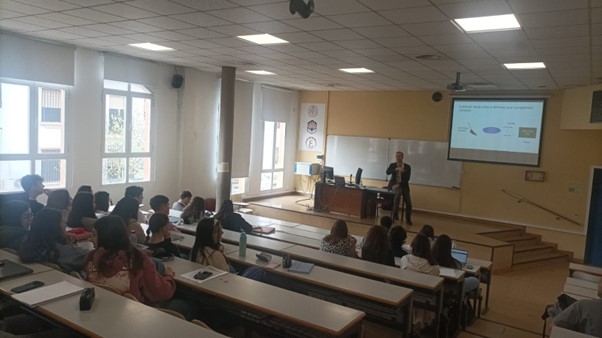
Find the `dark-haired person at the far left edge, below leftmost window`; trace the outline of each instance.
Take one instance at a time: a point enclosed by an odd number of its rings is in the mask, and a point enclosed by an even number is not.
[[[29,203],[19,200],[4,202],[0,211],[0,248],[19,250],[32,219]]]

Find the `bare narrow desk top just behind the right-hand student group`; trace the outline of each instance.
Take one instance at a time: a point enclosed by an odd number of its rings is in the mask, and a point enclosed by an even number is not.
[[[373,276],[380,280],[391,280],[404,286],[413,286],[436,291],[443,284],[443,278],[441,277],[401,270],[391,266],[323,252],[299,245],[286,248],[284,252],[299,257],[302,261],[320,263],[321,265],[327,265],[337,270],[352,271],[363,275]]]

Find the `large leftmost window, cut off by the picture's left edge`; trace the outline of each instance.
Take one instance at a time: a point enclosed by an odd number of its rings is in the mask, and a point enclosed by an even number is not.
[[[36,173],[48,188],[66,186],[65,89],[0,82],[0,192],[20,191]]]

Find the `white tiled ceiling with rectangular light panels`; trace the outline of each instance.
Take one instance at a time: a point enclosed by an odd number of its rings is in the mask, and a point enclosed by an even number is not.
[[[522,29],[465,34],[450,22],[508,13]],[[444,90],[456,72],[496,93],[602,83],[602,0],[315,0],[308,19],[288,0],[0,0],[0,29],[203,71],[233,66],[238,78],[300,90]],[[290,43],[236,38],[259,33]],[[128,46],[140,42],[175,51]],[[501,66],[534,61],[547,69]],[[352,67],[374,73],[338,70]],[[244,72],[259,69],[276,75]]]

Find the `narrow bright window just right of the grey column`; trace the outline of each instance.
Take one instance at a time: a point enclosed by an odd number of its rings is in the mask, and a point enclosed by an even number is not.
[[[263,122],[263,160],[259,190],[276,190],[284,186],[284,145],[286,123]]]

